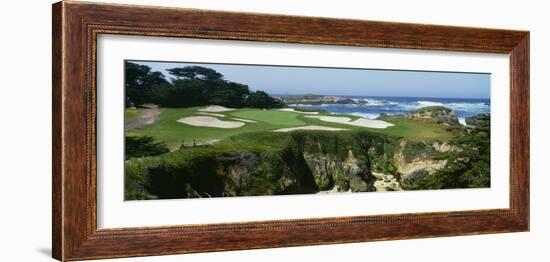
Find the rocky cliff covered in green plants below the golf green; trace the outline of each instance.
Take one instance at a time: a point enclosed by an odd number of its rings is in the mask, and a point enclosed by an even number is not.
[[[127,183],[135,190],[127,190],[126,199],[403,190],[445,165],[434,152],[452,150],[446,143],[366,132],[287,135],[278,150],[187,149],[130,161]]]

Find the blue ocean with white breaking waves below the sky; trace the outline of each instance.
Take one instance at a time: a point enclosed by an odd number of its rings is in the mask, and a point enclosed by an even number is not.
[[[322,109],[335,114],[348,114],[367,119],[375,119],[380,114],[406,114],[421,107],[444,106],[452,109],[464,124],[464,118],[491,111],[490,99],[477,98],[433,98],[433,97],[369,97],[369,96],[339,96],[366,101],[366,104],[291,104],[289,106],[308,109]]]

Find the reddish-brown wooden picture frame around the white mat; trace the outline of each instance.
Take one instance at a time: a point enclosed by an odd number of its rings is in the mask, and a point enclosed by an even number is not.
[[[53,6],[53,257],[81,260],[529,230],[529,33],[80,2]],[[510,55],[510,208],[97,229],[99,34]]]

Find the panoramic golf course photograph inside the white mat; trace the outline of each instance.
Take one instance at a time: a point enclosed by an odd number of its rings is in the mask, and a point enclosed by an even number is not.
[[[488,188],[490,77],[127,60],[125,199]]]

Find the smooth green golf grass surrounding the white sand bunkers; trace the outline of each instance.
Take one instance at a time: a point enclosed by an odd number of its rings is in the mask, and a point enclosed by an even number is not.
[[[305,114],[274,109],[243,108],[216,113],[223,115],[223,117],[216,117],[222,121],[235,121],[232,118],[256,121],[255,123],[246,122],[244,126],[239,128],[197,127],[177,122],[184,117],[205,116],[201,115],[200,112],[197,111],[198,109],[200,108],[163,108],[153,124],[144,125],[133,130],[126,130],[126,135],[152,136],[157,141],[165,142],[172,150],[179,148],[182,141],[186,145],[192,143],[193,140],[197,143],[214,143],[244,133],[258,133],[261,131],[273,131],[279,128],[306,125],[337,127],[349,130],[369,130],[380,134],[412,139],[447,139],[451,135],[446,128],[440,124],[431,121],[411,120],[404,117],[387,118],[385,121],[394,124],[394,126],[385,129],[377,129],[330,123],[315,118],[308,118]],[[136,119],[139,117],[138,110],[140,109],[127,109],[125,112],[126,118]],[[321,115],[340,116],[328,113],[321,113]],[[352,120],[358,118],[349,115],[341,116],[349,117]]]

